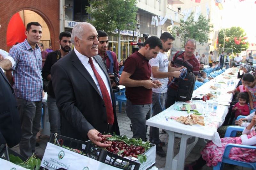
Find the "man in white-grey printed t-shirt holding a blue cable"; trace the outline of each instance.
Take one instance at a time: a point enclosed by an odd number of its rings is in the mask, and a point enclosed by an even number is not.
[[[160,40],[162,41],[163,49],[160,50],[156,58],[152,58],[149,61],[152,69],[151,77],[153,81],[159,80],[161,83],[163,83],[161,87],[152,89],[152,116],[155,116],[164,110],[164,106],[167,100],[168,78],[179,77],[180,69],[183,68],[171,67],[168,61],[168,57],[164,54],[164,52],[168,52],[172,48],[172,41],[175,40],[174,37],[170,33],[164,32],[161,34]],[[149,141],[153,144],[156,144],[156,154],[161,157],[166,156],[166,153],[162,148],[164,142],[161,142],[159,139],[158,128],[150,127]]]

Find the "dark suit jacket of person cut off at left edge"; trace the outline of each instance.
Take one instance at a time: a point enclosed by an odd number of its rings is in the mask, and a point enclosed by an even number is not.
[[[11,148],[19,144],[20,127],[14,90],[0,67],[0,145],[7,144]]]

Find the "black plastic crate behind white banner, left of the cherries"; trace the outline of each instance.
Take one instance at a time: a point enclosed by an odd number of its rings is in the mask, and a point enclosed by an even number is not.
[[[61,146],[64,145],[72,149],[78,149],[80,151],[83,151],[86,154],[96,150],[94,145],[91,142],[85,142],[85,141],[73,139],[70,137],[65,137],[62,135],[55,135],[53,133],[51,133],[50,139],[48,142],[52,144],[57,144],[57,145],[59,143]],[[83,145],[85,145],[84,149],[83,149],[84,147]]]

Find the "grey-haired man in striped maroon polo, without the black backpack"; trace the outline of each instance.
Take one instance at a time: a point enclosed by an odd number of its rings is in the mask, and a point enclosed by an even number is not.
[[[172,58],[171,66],[172,67],[181,67],[184,66],[187,68],[187,71],[194,73],[197,80],[197,75],[199,73],[200,63],[196,59],[195,55],[193,54],[196,49],[196,40],[188,39],[185,43],[185,51],[180,54],[178,51]],[[180,54],[180,55],[178,55]],[[178,79],[175,79],[178,80]],[[178,85],[176,84],[177,81],[174,81],[169,87],[167,91],[167,101],[165,104],[165,108],[172,106],[175,103],[175,98],[177,94]],[[193,87],[194,88],[194,87]]]

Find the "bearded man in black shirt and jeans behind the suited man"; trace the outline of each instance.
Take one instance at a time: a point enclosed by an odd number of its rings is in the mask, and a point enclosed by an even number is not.
[[[62,32],[59,36],[60,50],[48,53],[42,70],[42,77],[49,81],[47,85],[47,107],[49,112],[49,122],[51,133],[60,134],[60,112],[56,105],[56,99],[52,87],[51,68],[61,57],[69,53],[72,46],[71,33]]]

